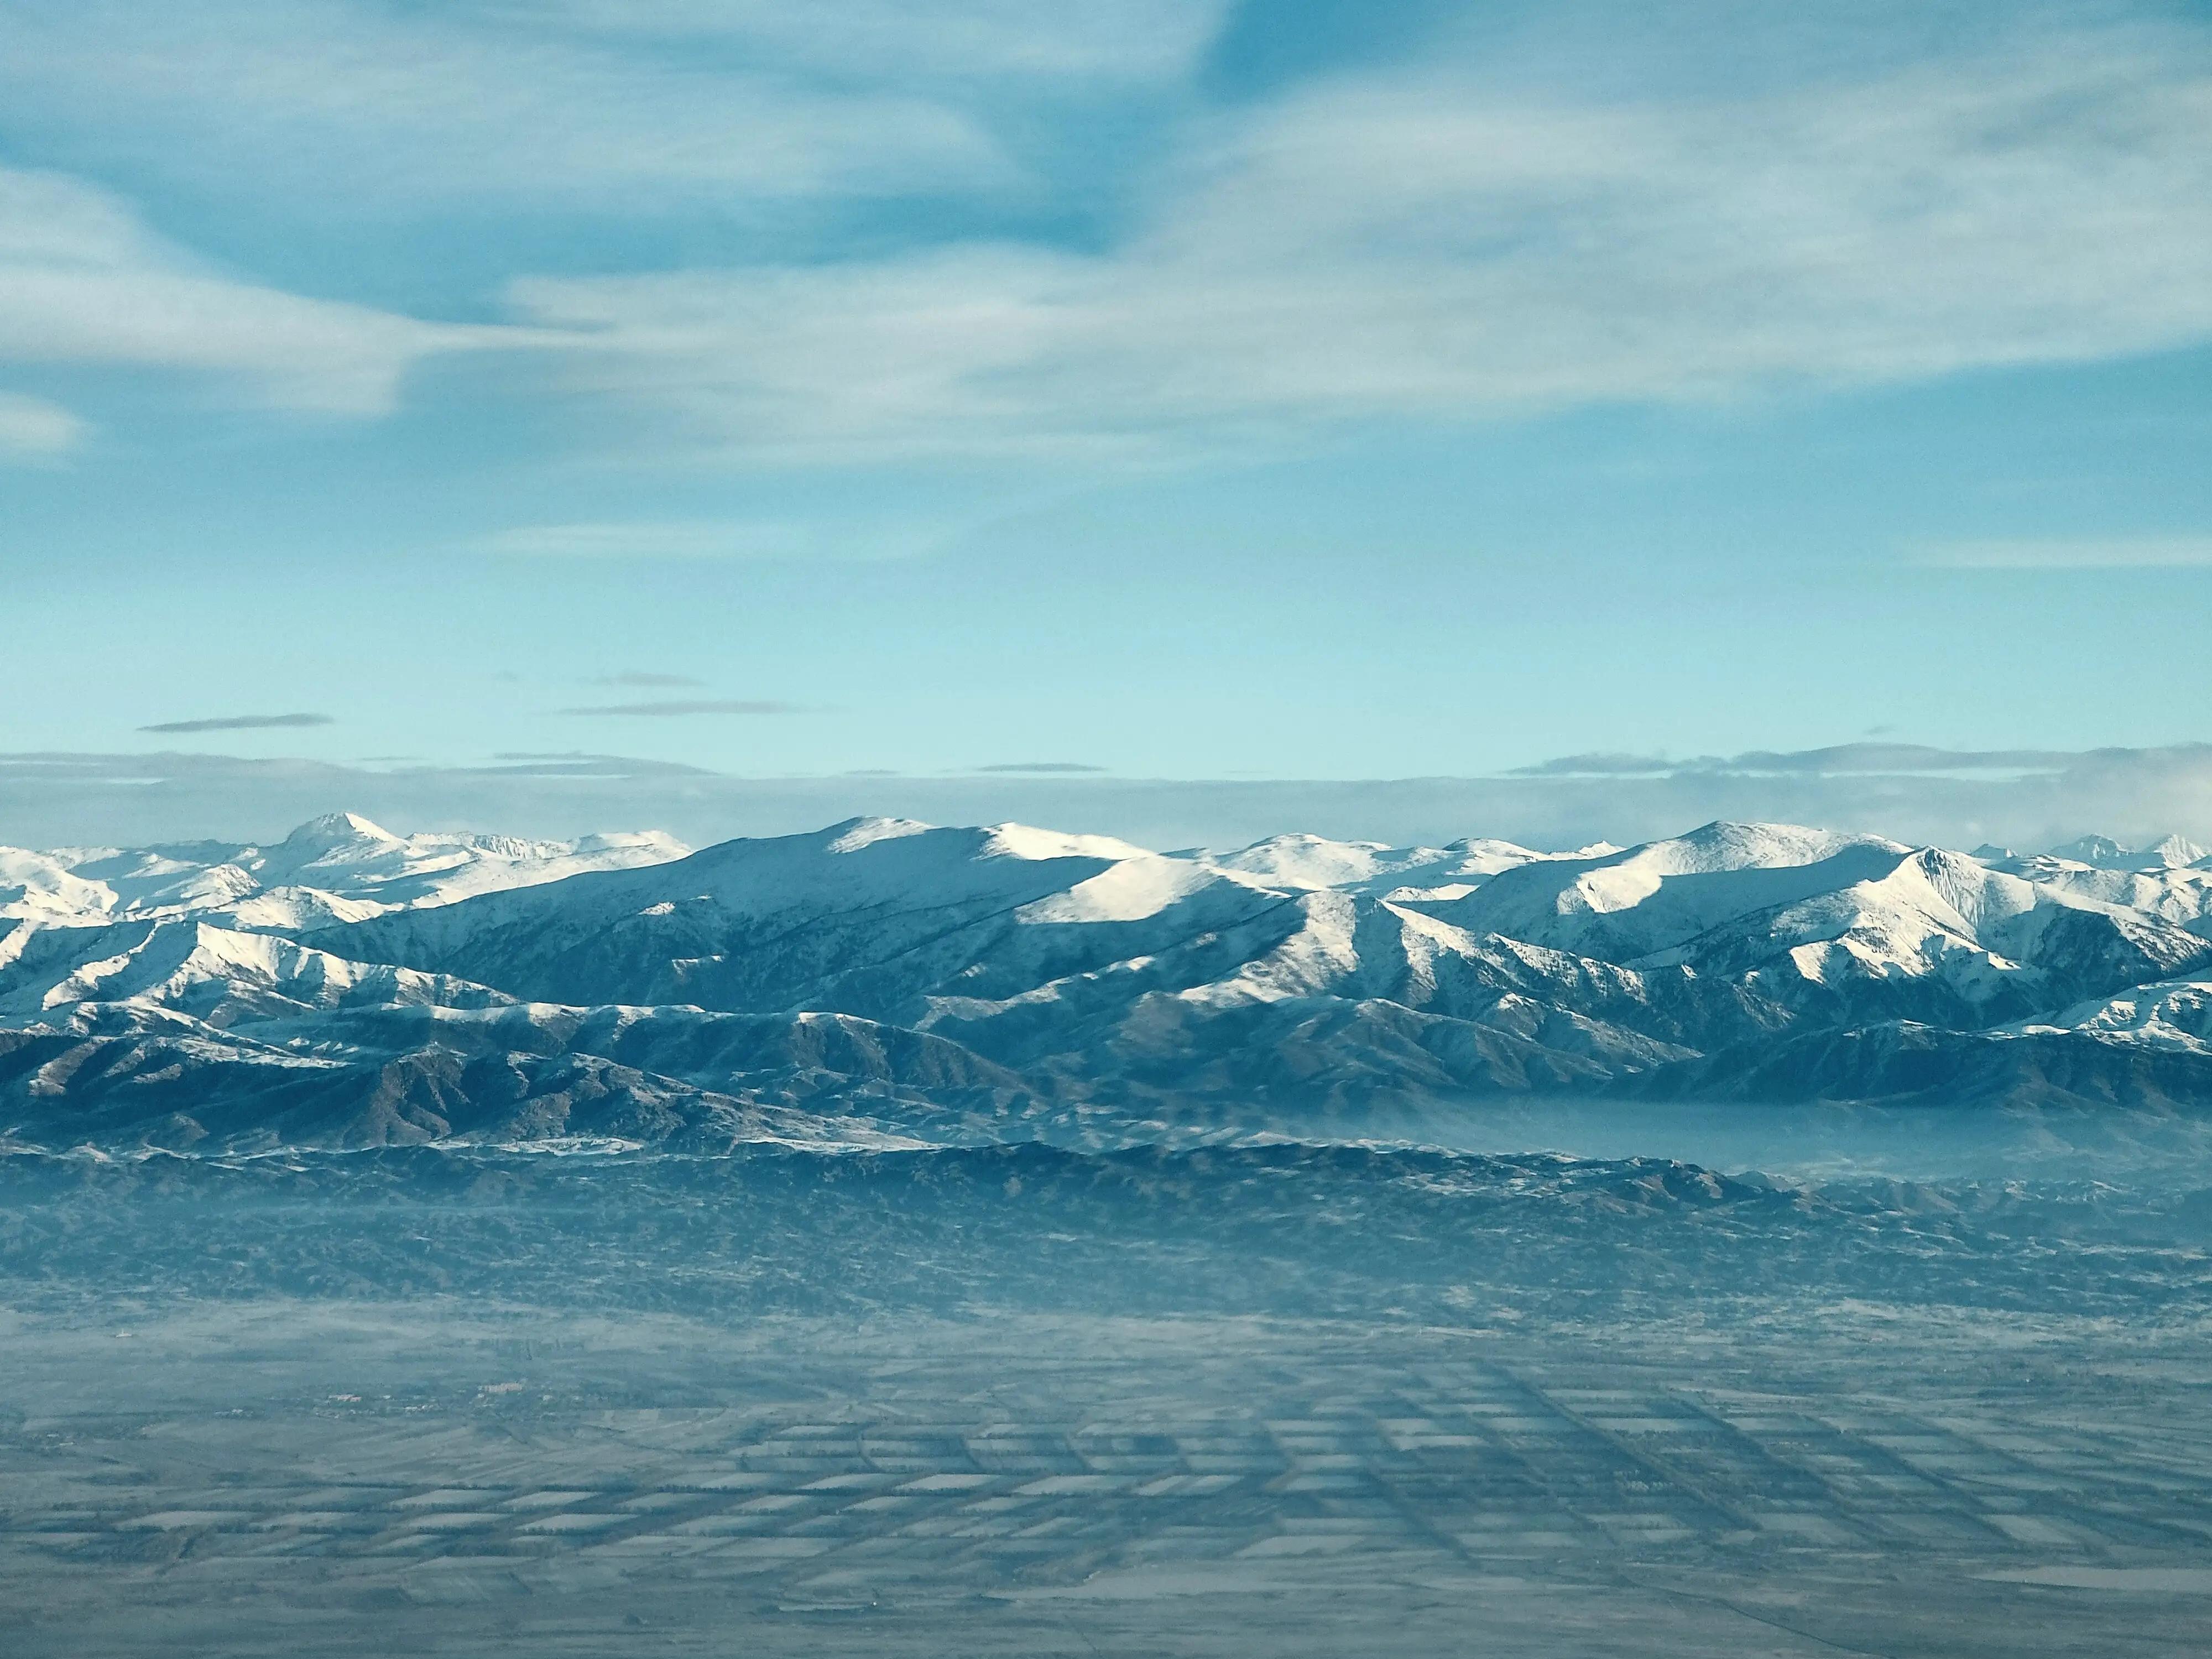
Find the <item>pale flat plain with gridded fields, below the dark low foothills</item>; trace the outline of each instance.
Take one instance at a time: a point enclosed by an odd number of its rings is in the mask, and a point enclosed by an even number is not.
[[[2174,1655],[2212,1619],[2203,1329],[128,1318],[0,1347],[22,1659]]]

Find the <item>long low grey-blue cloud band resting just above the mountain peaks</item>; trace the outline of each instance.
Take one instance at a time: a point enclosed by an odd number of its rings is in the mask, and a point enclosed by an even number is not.
[[[2035,752],[2033,765],[1911,750],[1902,768],[1814,750],[1657,772],[1491,779],[1157,781],[1068,774],[962,779],[737,779],[611,754],[502,757],[476,768],[363,768],[223,754],[0,754],[0,843],[257,841],[323,812],[396,830],[582,834],[668,830],[692,845],[816,830],[860,814],[933,823],[1006,818],[1117,834],[1150,847],[1243,845],[1281,832],[1533,847],[1635,843],[1708,823],[1794,821],[1900,841],[2017,849],[2110,834],[2212,843],[2212,745]],[[1823,759],[1829,757],[1829,759]]]

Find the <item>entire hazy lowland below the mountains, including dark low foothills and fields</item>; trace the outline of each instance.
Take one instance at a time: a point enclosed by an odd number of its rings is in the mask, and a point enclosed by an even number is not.
[[[2192,1655],[2208,1192],[13,1152],[0,1650]]]

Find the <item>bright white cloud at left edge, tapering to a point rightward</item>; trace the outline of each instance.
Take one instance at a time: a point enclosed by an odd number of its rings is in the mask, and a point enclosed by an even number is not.
[[[380,414],[416,361],[502,338],[221,274],[88,184],[0,168],[0,361],[212,372],[279,407]]]

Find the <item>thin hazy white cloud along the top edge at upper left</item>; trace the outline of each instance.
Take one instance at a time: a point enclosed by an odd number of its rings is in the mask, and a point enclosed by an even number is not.
[[[812,15],[776,33],[807,38]],[[648,51],[549,20],[560,11],[82,0],[11,22],[0,104],[88,155],[307,219],[487,197],[728,210],[1015,177],[971,115],[927,91],[799,73],[745,40]]]

